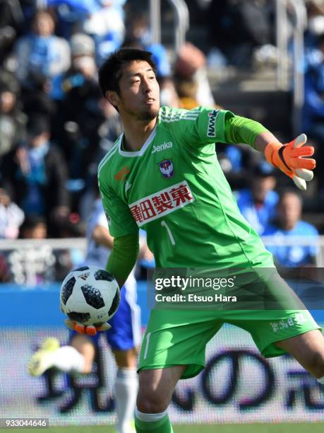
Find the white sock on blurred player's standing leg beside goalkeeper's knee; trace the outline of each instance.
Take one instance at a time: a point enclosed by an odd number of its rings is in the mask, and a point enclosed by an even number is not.
[[[117,429],[119,433],[129,430],[129,422],[133,420],[138,391],[138,374],[136,369],[118,369],[115,381],[115,400]]]

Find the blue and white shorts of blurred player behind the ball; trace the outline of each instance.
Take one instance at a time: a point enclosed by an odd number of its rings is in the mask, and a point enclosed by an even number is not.
[[[109,321],[112,328],[104,333],[97,333],[90,337],[95,345],[98,344],[100,335],[107,339],[113,350],[129,350],[140,345],[140,307],[137,304],[136,280],[131,275],[121,289],[121,302],[116,314]],[[70,341],[78,335],[76,331],[70,331]]]

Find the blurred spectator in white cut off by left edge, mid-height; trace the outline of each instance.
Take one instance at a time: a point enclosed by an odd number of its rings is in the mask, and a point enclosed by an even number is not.
[[[18,238],[19,227],[25,215],[16,203],[11,202],[8,192],[0,188],[0,238]]]

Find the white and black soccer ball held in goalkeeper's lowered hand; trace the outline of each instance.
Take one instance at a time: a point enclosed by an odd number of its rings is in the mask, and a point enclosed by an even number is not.
[[[116,279],[97,266],[83,266],[70,272],[60,290],[61,311],[85,326],[100,326],[114,316],[120,301]]]

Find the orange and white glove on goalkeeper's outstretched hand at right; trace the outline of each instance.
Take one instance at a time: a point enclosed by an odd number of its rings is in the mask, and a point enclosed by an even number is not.
[[[313,158],[302,158],[314,153],[313,146],[304,146],[307,137],[300,134],[299,137],[287,144],[269,143],[265,147],[265,159],[272,166],[280,168],[300,190],[306,190],[306,181],[313,179],[313,168],[316,161]],[[304,147],[303,147],[304,146]]]

